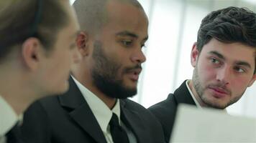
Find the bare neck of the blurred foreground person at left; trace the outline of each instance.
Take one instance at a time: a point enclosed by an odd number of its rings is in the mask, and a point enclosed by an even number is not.
[[[22,76],[17,69],[0,66],[0,94],[6,102],[14,109],[17,115],[22,114],[25,109],[34,102],[35,97],[32,87],[27,82],[27,77]],[[22,72],[22,71],[21,71]]]

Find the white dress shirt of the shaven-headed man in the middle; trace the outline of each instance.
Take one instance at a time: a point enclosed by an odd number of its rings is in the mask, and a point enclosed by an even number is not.
[[[120,119],[120,103],[119,99],[116,100],[116,104],[114,105],[114,108],[111,110],[109,109],[106,104],[99,99],[95,94],[93,94],[91,91],[89,91],[86,87],[84,87],[80,82],[78,82],[74,77],[72,77],[78,86],[78,89],[80,89],[81,93],[83,94],[84,99],[86,99],[86,102],[88,103],[89,107],[91,108],[91,111],[93,112],[94,117],[96,117],[97,122],[99,123],[99,126],[101,127],[102,132],[104,133],[104,136],[106,138],[106,141],[108,143],[114,143],[111,137],[109,122],[112,117],[112,113],[116,114],[119,119],[119,124],[126,130],[127,136],[130,143],[136,143],[136,137],[131,132],[130,129],[128,129],[123,122]]]

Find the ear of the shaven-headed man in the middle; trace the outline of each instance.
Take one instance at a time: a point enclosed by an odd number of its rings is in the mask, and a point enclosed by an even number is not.
[[[84,31],[81,31],[76,38],[76,45],[78,46],[78,51],[81,56],[88,56],[88,34]]]

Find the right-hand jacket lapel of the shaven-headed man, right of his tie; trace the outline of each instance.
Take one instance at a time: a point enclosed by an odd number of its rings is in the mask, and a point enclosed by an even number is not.
[[[120,99],[121,107],[121,119],[129,129],[132,130],[135,137],[137,137],[137,142],[145,142],[148,137],[145,134],[145,124],[143,124],[142,119],[140,118],[139,113],[132,111],[125,107],[125,101]]]

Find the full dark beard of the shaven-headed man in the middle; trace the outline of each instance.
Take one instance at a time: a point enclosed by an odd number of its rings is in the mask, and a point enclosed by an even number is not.
[[[141,69],[140,64],[134,67],[127,67],[121,71],[122,64],[118,60],[111,59],[104,54],[101,41],[93,44],[94,66],[91,70],[93,84],[106,96],[117,99],[126,99],[137,94],[137,87],[129,88],[124,85],[122,75],[133,69]]]

